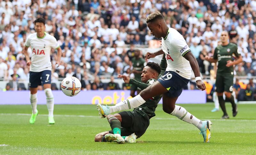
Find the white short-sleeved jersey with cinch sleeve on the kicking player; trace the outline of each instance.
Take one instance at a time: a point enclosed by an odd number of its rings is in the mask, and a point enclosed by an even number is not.
[[[175,29],[169,28],[167,36],[162,38],[162,49],[167,61],[166,71],[174,71],[190,79],[192,69],[189,61],[183,56],[191,50],[183,36]]]

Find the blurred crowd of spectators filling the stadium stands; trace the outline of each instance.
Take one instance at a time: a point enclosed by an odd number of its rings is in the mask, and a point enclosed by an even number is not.
[[[154,11],[183,35],[203,75],[210,75],[214,66],[204,56],[213,55],[226,30],[243,56],[236,75],[256,76],[256,0],[0,0],[0,78],[10,80],[7,90],[20,89],[11,81],[28,80],[22,49],[26,37],[35,32],[34,20],[42,17],[45,31],[62,49],[58,67],[52,49],[52,79],[77,74],[84,90],[119,89],[104,86],[98,76],[132,76],[134,50],[156,39],[145,21]],[[256,100],[255,83],[245,85],[248,100]]]

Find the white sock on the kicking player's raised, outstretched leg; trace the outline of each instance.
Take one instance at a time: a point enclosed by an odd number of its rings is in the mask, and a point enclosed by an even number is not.
[[[124,101],[121,101],[117,103],[115,106],[110,106],[110,113],[116,112],[116,111],[122,111],[122,110],[128,110],[133,109],[136,107],[139,107],[141,104],[145,103],[146,101],[139,95],[127,99]]]

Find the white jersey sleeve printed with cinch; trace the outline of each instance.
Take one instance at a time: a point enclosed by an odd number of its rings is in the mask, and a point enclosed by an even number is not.
[[[171,42],[171,46],[172,46],[172,52],[180,53],[182,57],[184,57],[186,53],[191,51],[185,39],[173,39]]]

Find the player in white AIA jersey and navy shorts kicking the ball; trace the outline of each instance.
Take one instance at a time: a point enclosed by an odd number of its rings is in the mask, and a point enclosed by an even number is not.
[[[164,112],[195,125],[201,131],[204,142],[209,142],[211,121],[201,121],[191,115],[185,108],[175,105],[182,88],[190,80],[191,68],[196,77],[196,86],[201,90],[206,88],[200,78],[199,66],[195,57],[182,35],[166,25],[164,17],[159,11],[148,15],[146,22],[151,34],[156,38],[162,37],[162,49],[155,53],[146,53],[145,58],[147,60],[165,53],[167,61],[166,72],[163,77],[131,99],[119,102],[111,107],[98,104],[100,114],[104,117],[112,112],[132,109],[145,103],[151,97],[163,94]]]

